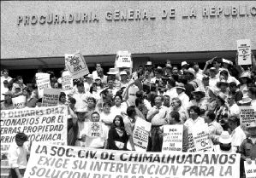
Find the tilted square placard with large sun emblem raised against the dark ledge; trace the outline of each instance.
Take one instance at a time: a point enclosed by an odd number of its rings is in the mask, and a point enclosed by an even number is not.
[[[70,55],[66,54],[65,66],[72,75],[73,79],[81,78],[90,73],[86,65],[86,60],[84,59],[83,55],[80,54],[80,52]]]

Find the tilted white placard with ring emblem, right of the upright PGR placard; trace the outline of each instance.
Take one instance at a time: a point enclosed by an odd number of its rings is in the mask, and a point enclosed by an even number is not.
[[[201,124],[200,127],[193,129],[193,142],[197,152],[211,152],[213,144],[209,139],[209,129],[207,123]]]

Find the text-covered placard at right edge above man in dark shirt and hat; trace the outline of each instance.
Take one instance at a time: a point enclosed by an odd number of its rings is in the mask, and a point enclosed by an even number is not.
[[[256,108],[253,108],[253,106],[239,106],[239,111],[242,129],[256,123]]]

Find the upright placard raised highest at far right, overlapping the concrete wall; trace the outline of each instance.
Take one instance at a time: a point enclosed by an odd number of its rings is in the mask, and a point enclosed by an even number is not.
[[[237,40],[238,65],[252,65],[251,41],[249,39]]]

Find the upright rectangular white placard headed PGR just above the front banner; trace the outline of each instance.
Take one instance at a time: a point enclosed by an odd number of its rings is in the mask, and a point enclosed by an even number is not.
[[[164,125],[162,152],[182,152],[183,125]]]

